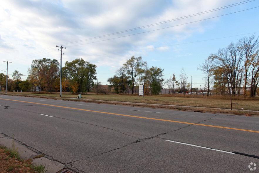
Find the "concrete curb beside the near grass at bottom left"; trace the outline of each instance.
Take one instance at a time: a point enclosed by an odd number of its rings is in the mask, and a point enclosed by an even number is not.
[[[18,152],[21,156],[21,159],[32,159],[33,164],[43,164],[45,165],[45,168],[47,169],[47,173],[53,173],[53,172],[59,172],[61,169],[65,167],[65,165],[55,162],[53,160],[50,160],[46,157],[40,157],[42,153],[35,152],[26,147],[24,144],[21,144],[20,142],[17,142],[15,139],[12,139],[11,137],[8,137],[4,134],[0,133],[0,144],[6,146],[7,148],[11,148],[12,144],[15,144],[15,147],[18,148]],[[35,158],[35,157],[39,158]]]

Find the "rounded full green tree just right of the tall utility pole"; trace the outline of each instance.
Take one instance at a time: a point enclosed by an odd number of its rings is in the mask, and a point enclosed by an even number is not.
[[[72,62],[65,62],[63,70],[68,74],[71,79],[71,84],[78,83],[78,93],[89,90],[91,85],[94,85],[93,80],[96,80],[96,65],[90,64],[88,61],[75,59]]]

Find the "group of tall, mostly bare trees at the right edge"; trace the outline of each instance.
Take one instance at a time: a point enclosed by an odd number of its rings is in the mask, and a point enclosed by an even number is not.
[[[255,97],[259,83],[258,55],[259,39],[255,35],[243,37],[211,54],[198,68],[206,74],[208,93],[213,84],[217,94]]]

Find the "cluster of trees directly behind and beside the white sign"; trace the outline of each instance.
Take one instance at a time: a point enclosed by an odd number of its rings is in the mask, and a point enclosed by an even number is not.
[[[158,95],[161,92],[161,84],[164,81],[163,71],[164,69],[160,67],[149,67],[147,62],[142,60],[141,56],[132,56],[107,81],[117,93],[125,93],[127,90],[131,90],[131,94],[133,94],[134,90],[136,92],[137,89],[134,86],[140,84],[144,85],[144,93],[146,95]]]

